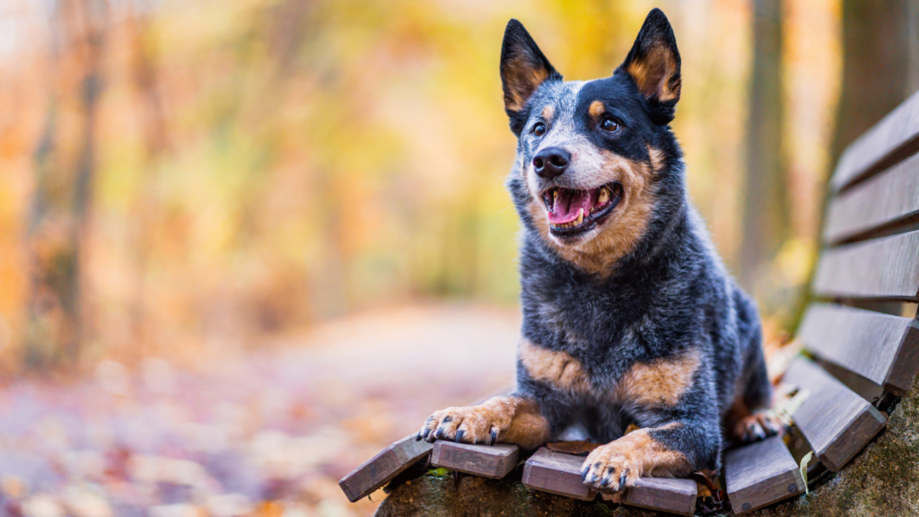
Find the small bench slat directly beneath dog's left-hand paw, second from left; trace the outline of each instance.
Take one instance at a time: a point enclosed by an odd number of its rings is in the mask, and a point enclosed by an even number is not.
[[[501,479],[514,469],[519,455],[520,448],[507,443],[471,445],[438,440],[431,452],[431,465]]]

